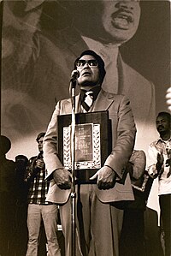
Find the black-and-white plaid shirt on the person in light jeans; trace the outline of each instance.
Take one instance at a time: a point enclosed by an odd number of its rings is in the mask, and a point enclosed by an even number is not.
[[[29,183],[27,201],[28,204],[48,205],[49,203],[45,202],[45,198],[50,182],[44,180],[45,168],[40,170],[35,167],[38,158],[43,158],[42,154],[39,153],[37,157],[30,158],[27,164],[25,176],[25,182]]]

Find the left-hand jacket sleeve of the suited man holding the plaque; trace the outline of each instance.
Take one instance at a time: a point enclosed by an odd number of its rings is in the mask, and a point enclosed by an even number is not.
[[[51,121],[44,136],[44,163],[46,166],[46,178],[48,178],[54,170],[63,167],[57,154],[57,116],[60,113],[60,105],[61,102],[59,101],[56,104],[56,109],[51,117]]]

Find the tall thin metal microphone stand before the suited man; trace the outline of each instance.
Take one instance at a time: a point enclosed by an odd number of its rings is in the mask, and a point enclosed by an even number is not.
[[[70,80],[70,93],[72,102],[71,117],[71,256],[75,256],[75,209],[76,209],[76,193],[75,193],[75,86],[76,80]]]

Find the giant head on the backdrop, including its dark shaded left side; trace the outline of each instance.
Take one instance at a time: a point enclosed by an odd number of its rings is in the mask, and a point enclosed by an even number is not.
[[[139,27],[140,6],[136,0],[64,1],[82,35],[103,43],[122,44]]]

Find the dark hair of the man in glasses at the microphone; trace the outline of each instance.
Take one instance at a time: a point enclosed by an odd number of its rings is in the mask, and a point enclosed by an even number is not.
[[[80,57],[78,57],[75,62],[74,62],[74,69],[77,69],[76,67],[76,63],[80,60],[81,57],[85,56],[85,55],[91,55],[93,57],[95,57],[95,59],[97,60],[98,62],[98,68],[99,68],[99,76],[100,76],[100,83],[102,84],[103,83],[103,79],[104,79],[104,76],[106,74],[106,70],[104,68],[104,62],[103,62],[103,59],[97,55],[97,53],[95,51],[91,51],[91,50],[86,50],[86,51],[83,51],[81,54],[80,54]]]

